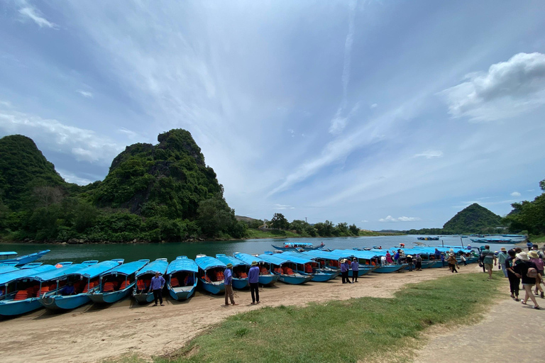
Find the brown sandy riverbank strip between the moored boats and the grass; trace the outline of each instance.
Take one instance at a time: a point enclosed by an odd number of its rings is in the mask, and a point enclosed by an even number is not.
[[[461,273],[478,272],[473,264]],[[390,297],[412,282],[450,275],[448,269],[371,274],[358,284],[341,279],[324,283],[276,286],[260,292],[262,303],[250,305],[249,291],[236,291],[240,306],[222,307],[224,296],[197,293],[187,302],[167,300],[165,307],[138,306],[127,298],[111,306],[82,306],[67,313],[42,309],[0,322],[0,357],[13,362],[97,362],[126,352],[166,354],[184,345],[211,324],[229,315],[263,306],[297,305],[362,296]]]

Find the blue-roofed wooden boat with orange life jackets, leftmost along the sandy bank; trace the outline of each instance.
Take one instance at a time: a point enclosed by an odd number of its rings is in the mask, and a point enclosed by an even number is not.
[[[15,289],[17,292],[0,300],[0,315],[20,315],[41,308],[40,298],[42,296],[55,294],[65,285],[67,275],[85,267],[87,267],[85,264],[65,262],[62,267],[58,268],[47,268],[42,271],[43,267],[39,267],[31,269],[31,274],[28,274],[27,271],[28,276],[13,281],[13,284],[18,285]]]

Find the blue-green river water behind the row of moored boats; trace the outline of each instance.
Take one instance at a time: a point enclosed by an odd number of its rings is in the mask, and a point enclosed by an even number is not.
[[[92,245],[29,245],[24,243],[4,243],[0,244],[1,251],[16,251],[19,255],[36,252],[38,250],[51,250],[47,255],[40,259],[44,263],[56,263],[61,261],[82,262],[86,259],[105,259],[123,258],[125,262],[135,261],[137,259],[154,260],[160,257],[166,257],[169,261],[177,256],[185,255],[194,259],[195,255],[202,253],[204,255],[215,256],[216,253],[232,255],[233,252],[263,253],[272,251],[271,245],[282,245],[283,242],[312,242],[319,245],[324,242],[326,247],[332,249],[351,249],[353,247],[373,247],[382,246],[382,248],[399,247],[404,243],[406,247],[413,247],[413,242],[417,242],[417,235],[397,235],[380,237],[341,237],[341,238],[285,238],[285,239],[257,239],[257,240],[236,240],[236,241],[204,241],[204,242],[180,242],[180,243],[131,243],[131,244],[92,244]],[[461,245],[461,238],[456,236],[442,236],[439,241],[419,241],[430,246]],[[474,247],[469,238],[463,238],[463,244]],[[492,249],[500,250],[503,245],[492,245]],[[509,245],[505,245],[508,247]],[[512,245],[511,245],[512,246]]]

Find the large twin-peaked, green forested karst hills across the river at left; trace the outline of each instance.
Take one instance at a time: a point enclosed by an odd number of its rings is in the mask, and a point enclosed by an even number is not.
[[[241,238],[216,173],[186,130],[126,147],[104,181],[66,183],[33,140],[0,139],[0,236],[126,242]]]

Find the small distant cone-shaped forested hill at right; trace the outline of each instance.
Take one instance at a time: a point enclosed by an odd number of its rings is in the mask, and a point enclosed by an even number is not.
[[[443,229],[453,233],[485,233],[494,232],[501,225],[502,218],[500,216],[477,203],[473,203],[456,213],[456,216],[443,225]]]

